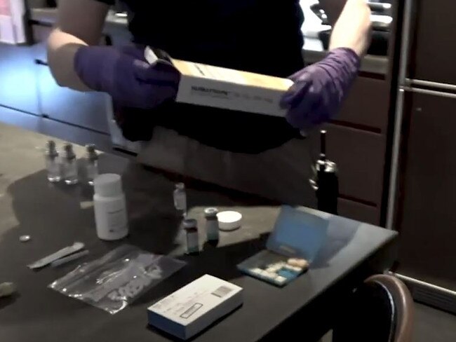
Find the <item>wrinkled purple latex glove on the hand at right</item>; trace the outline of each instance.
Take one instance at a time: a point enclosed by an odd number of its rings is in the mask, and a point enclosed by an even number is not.
[[[295,82],[283,95],[287,121],[307,129],[329,121],[337,113],[358,74],[360,58],[349,48],[336,48],[325,59],[290,76]]]

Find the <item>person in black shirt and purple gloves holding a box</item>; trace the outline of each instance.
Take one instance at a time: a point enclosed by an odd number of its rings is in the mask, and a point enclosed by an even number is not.
[[[119,47],[99,43],[114,0],[60,0],[48,39],[57,83],[111,95],[123,135],[147,142],[142,163],[283,202],[304,198],[310,166],[300,132],[329,121],[356,78],[369,43],[366,1],[321,0],[338,19],[327,57],[309,67],[298,0],[121,2],[133,43]],[[148,64],[145,46],[181,60],[290,77],[294,84],[281,101],[286,119],[177,104],[179,74],[167,62]]]

